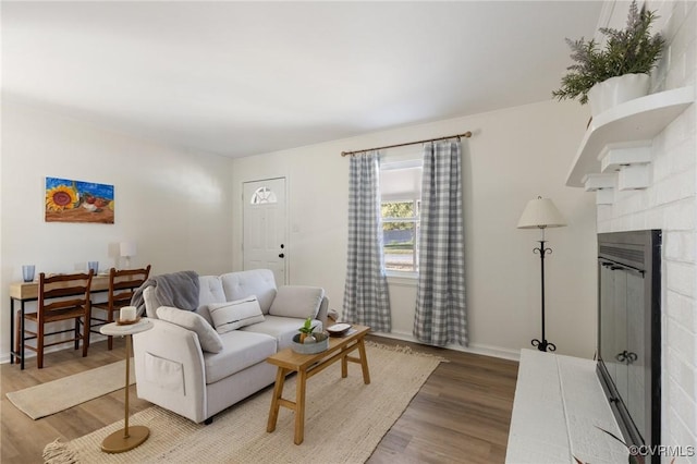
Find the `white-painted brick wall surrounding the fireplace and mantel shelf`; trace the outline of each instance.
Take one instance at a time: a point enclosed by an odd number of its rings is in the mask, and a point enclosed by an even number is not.
[[[668,47],[652,74],[652,91],[697,87],[697,8],[692,1],[650,1]],[[626,21],[616,3],[611,27]],[[662,444],[697,443],[697,109],[692,105],[653,139],[653,184],[617,192],[598,208],[598,231],[663,230]],[[683,457],[685,459],[685,457]],[[670,457],[664,457],[665,462]],[[681,461],[680,462],[685,462]],[[697,456],[686,461],[697,463]]]

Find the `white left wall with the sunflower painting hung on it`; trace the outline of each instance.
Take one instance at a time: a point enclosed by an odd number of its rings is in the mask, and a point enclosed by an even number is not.
[[[9,356],[10,282],[22,265],[38,272],[118,265],[119,242],[134,241],[131,266],[151,272],[232,267],[231,160],[129,137],[71,118],[2,102],[0,346]],[[114,185],[115,223],[44,221],[45,178]],[[123,262],[121,262],[123,265]]]

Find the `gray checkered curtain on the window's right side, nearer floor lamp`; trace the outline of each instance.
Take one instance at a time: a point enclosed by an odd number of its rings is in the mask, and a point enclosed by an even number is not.
[[[419,272],[414,337],[467,344],[460,142],[424,147]]]

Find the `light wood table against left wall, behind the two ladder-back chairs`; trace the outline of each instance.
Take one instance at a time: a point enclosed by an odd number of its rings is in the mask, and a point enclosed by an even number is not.
[[[91,278],[89,285],[90,293],[109,291],[109,274],[97,274]],[[15,359],[20,361],[21,369],[24,369],[24,313],[26,302],[35,302],[39,297],[39,282],[12,282],[10,283],[10,364],[14,364]],[[16,304],[20,309],[15,310]],[[15,347],[14,318],[19,318],[19,342],[20,346]]]

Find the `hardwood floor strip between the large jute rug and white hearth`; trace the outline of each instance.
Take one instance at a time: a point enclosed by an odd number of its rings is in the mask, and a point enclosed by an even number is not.
[[[369,337],[444,357],[368,463],[503,463],[518,363]]]

